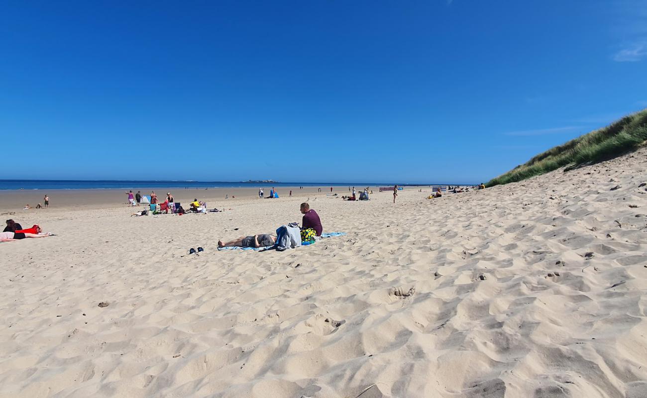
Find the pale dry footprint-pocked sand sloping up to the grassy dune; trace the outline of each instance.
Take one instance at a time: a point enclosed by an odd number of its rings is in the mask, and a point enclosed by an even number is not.
[[[281,189],[184,216],[129,217],[123,193],[0,206],[57,234],[0,243],[0,396],[647,397],[646,171],[641,149],[395,205]],[[300,223],[305,199],[347,235],[216,249]]]

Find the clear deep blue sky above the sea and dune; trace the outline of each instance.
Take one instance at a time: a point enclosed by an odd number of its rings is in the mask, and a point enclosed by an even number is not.
[[[480,182],[647,107],[647,0],[5,1],[2,179]]]

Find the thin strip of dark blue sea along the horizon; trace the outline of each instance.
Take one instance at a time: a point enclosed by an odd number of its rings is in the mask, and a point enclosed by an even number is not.
[[[331,182],[222,182],[222,181],[78,181],[78,180],[0,180],[0,190],[89,190],[132,188],[258,188],[272,186],[387,186],[361,182],[355,184]],[[424,184],[426,185],[426,184]]]

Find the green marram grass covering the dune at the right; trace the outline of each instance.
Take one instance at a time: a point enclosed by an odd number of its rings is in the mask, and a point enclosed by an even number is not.
[[[564,166],[580,166],[608,160],[634,151],[647,141],[647,109],[580,135],[565,144],[551,148],[520,166],[491,179],[487,186],[521,181]]]

